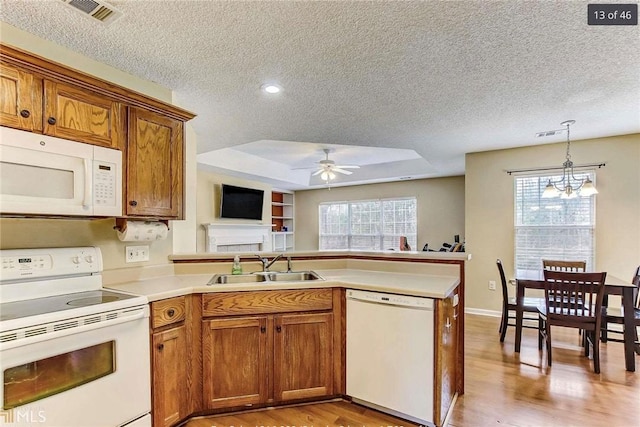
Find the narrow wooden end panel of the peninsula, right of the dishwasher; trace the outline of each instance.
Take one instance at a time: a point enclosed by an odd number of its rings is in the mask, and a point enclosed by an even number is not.
[[[458,290],[456,290],[458,292]],[[436,360],[434,419],[442,425],[456,393],[458,362],[458,310],[457,296],[438,300],[436,309]]]

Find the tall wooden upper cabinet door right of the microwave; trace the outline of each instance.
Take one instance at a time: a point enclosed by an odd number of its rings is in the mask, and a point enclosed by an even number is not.
[[[182,219],[183,124],[129,109],[127,215]]]

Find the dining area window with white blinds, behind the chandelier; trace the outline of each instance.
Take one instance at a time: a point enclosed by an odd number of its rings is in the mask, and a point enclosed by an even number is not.
[[[594,172],[581,173],[595,181]],[[516,277],[542,277],[542,259],[586,260],[593,270],[595,197],[543,199],[547,182],[560,176],[515,179]]]

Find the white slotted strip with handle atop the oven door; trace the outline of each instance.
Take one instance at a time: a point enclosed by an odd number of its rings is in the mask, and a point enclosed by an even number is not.
[[[115,316],[115,314],[117,314],[117,317],[110,318],[111,316]],[[92,323],[88,322],[89,319],[95,319],[96,316],[100,316],[101,319],[104,318],[105,320],[101,320],[98,322],[93,321]],[[6,338],[7,334],[5,333],[3,334],[3,339],[5,339],[5,341],[0,342],[0,352],[5,350],[10,350],[12,348],[23,347],[30,344],[49,341],[49,340],[65,337],[68,335],[75,335],[83,332],[93,331],[96,329],[107,328],[107,327],[115,326],[121,323],[134,322],[136,320],[144,319],[146,317],[149,317],[149,307],[145,305],[141,307],[122,309],[122,310],[117,310],[113,312],[83,316],[81,318],[75,318],[75,319],[66,319],[63,321],[52,322],[46,325],[40,325],[37,328],[38,329],[46,328],[46,332],[43,332],[39,335],[32,335],[27,338],[24,337],[24,330],[22,330],[20,332],[17,332],[18,334],[21,334],[22,337],[18,336],[17,339],[7,341],[7,338]],[[60,329],[60,330],[55,330],[54,328],[56,325],[62,325],[62,324],[72,325],[73,322],[77,322],[78,324],[81,324],[83,323],[83,321],[86,323],[82,324],[81,326],[70,326],[70,327],[67,327],[66,329]],[[30,327],[30,328],[24,328],[24,329],[33,330],[33,329],[36,329],[36,327]]]

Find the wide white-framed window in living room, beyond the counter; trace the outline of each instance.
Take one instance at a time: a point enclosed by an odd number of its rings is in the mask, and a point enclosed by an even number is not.
[[[415,224],[413,224],[413,228],[415,229],[415,233],[386,233],[385,234],[385,222],[384,222],[384,203],[387,202],[405,202],[412,201],[415,207]],[[368,219],[369,232],[368,233],[360,233],[354,234],[353,232],[353,221],[354,221],[354,208],[363,203],[378,203],[378,209],[376,212],[371,212],[373,216],[377,215],[376,218],[372,218],[372,216],[364,215],[365,219]],[[329,233],[323,233],[323,225],[324,225],[324,217],[323,217],[323,208],[331,206],[334,209],[344,209],[346,207],[346,217],[345,221],[342,222],[332,222],[332,230]],[[323,202],[318,205],[318,249],[319,250],[352,250],[352,249],[360,249],[360,250],[400,250],[400,237],[405,236],[409,243],[411,249],[416,250],[416,245],[418,241],[418,201],[416,197],[394,197],[394,198],[386,198],[386,199],[364,199],[364,200],[346,200],[346,201],[333,201],[333,202]],[[406,223],[403,222],[403,223]],[[396,222],[394,221],[394,224]],[[411,226],[411,224],[410,224]],[[394,226],[395,228],[395,226]],[[340,236],[344,237],[344,245],[341,247],[331,247],[328,248],[323,245],[324,239],[323,237],[334,237],[339,239]],[[373,245],[368,248],[363,248],[361,245],[356,246],[356,241],[360,239],[365,239],[370,237]],[[395,237],[395,239],[394,239]],[[387,239],[387,243],[385,244],[385,238]],[[394,240],[393,245],[389,244],[389,239]]]

